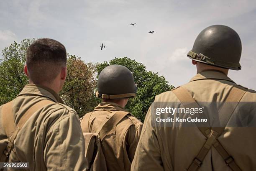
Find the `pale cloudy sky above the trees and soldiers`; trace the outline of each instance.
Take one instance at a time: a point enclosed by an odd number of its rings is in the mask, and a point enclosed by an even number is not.
[[[195,38],[215,24],[242,41],[242,70],[229,77],[256,89],[255,0],[1,0],[0,51],[25,38],[53,38],[85,62],[135,59],[177,87],[196,74],[187,57]]]

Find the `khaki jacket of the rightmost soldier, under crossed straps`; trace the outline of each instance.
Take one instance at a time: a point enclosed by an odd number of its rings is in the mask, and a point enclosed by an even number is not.
[[[182,87],[187,89],[198,102],[223,102],[233,85],[236,83],[221,72],[203,71]],[[155,101],[179,102],[171,91],[157,95]],[[256,92],[248,90],[241,101],[256,102]],[[242,171],[256,171],[255,127],[226,127],[218,140],[233,156]],[[149,108],[131,171],[186,171],[204,143],[205,137],[196,126],[189,128],[152,126],[151,108]],[[231,169],[212,147],[199,171],[231,171]]]

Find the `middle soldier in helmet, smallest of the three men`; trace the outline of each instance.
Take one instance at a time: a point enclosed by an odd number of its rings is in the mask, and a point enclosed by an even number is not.
[[[124,107],[130,97],[136,96],[136,92],[137,86],[129,69],[121,65],[105,67],[100,72],[96,93],[102,102],[81,121],[84,133],[99,133],[108,171],[131,169],[142,123]],[[116,122],[118,117],[120,122]],[[107,121],[112,123],[107,126],[110,127],[107,130],[111,131],[101,137],[100,131]]]

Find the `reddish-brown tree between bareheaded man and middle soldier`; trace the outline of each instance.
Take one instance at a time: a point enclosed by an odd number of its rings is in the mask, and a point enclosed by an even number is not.
[[[86,64],[79,57],[68,55],[67,70],[66,82],[59,94],[66,105],[82,116],[97,105],[93,93],[96,86],[95,66],[92,63]]]

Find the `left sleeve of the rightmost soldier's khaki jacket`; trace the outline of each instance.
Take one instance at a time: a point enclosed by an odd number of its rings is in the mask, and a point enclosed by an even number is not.
[[[144,121],[131,171],[164,171],[156,131],[151,125],[151,108]]]

